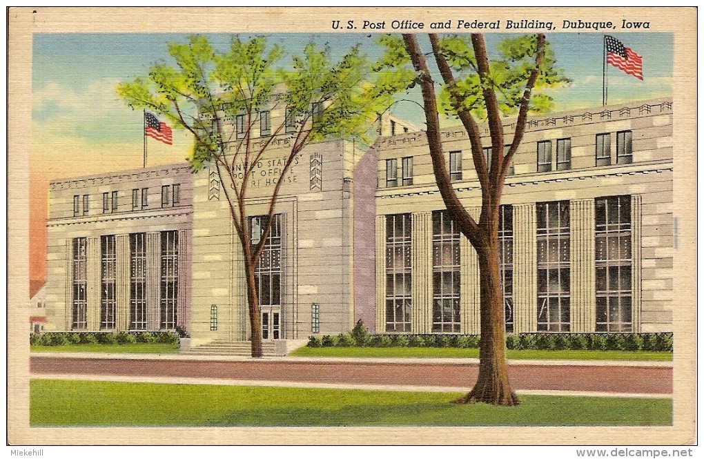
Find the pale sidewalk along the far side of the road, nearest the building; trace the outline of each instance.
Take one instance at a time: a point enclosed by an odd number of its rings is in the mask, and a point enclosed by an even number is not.
[[[217,362],[298,362],[298,363],[386,363],[395,365],[479,365],[478,358],[342,358],[342,357],[235,357],[191,356],[187,354],[98,353],[98,352],[32,352],[32,358],[94,358],[120,360],[190,360]],[[672,367],[672,360],[508,360],[509,365],[589,366],[589,367]]]

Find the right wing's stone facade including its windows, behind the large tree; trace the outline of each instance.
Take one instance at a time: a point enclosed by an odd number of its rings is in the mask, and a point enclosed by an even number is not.
[[[442,139],[478,220],[467,134]],[[529,119],[502,195],[507,331],[672,331],[672,147],[670,99]],[[377,154],[376,331],[479,333],[476,253],[443,211],[425,133]]]

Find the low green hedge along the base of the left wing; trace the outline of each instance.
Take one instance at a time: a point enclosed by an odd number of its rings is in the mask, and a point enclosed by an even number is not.
[[[67,344],[178,344],[174,332],[47,332],[30,334],[32,346],[65,346]]]

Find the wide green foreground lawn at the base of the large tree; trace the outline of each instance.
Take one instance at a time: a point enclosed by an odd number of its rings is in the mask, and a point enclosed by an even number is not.
[[[670,398],[521,396],[513,408],[460,394],[33,379],[30,425],[672,425]]]

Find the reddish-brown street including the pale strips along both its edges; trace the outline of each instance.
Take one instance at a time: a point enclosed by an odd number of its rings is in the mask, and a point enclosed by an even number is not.
[[[32,353],[32,377],[179,384],[466,391],[476,359],[222,358]],[[671,396],[671,362],[512,360],[519,394]]]

